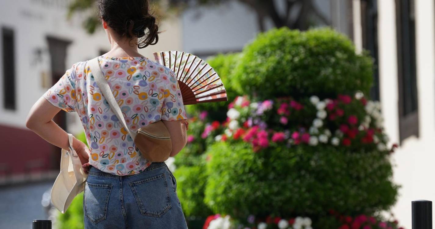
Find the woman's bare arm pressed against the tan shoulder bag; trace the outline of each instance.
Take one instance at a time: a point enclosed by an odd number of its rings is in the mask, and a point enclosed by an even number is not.
[[[187,143],[186,125],[183,124],[186,119],[177,121],[162,120],[171,135],[172,151],[171,157],[177,155]]]

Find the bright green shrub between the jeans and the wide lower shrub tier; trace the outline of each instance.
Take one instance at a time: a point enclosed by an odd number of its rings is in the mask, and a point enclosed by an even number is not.
[[[174,176],[177,178],[177,195],[184,215],[186,217],[211,215],[211,210],[203,201],[205,182],[207,181],[205,164],[178,167]]]

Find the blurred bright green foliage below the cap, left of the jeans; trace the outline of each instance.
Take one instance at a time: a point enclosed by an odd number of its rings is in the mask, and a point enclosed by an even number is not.
[[[83,192],[76,195],[67,211],[59,213],[57,218],[59,229],[83,229],[84,228],[84,213],[83,213]]]

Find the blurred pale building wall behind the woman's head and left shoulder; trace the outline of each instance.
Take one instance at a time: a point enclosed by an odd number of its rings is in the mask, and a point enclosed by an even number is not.
[[[47,78],[51,79],[47,35],[72,41],[67,48],[65,71],[78,61],[96,57],[101,49],[110,50],[104,30],[99,29],[96,34],[90,35],[81,26],[80,18],[87,14],[77,14],[68,21],[66,8],[59,7],[57,2],[64,1],[2,0],[0,2],[0,27],[10,27],[14,31],[17,104],[17,109],[14,111],[4,109],[3,93],[0,93],[0,125],[26,128],[25,120],[30,108],[47,91],[48,88],[44,88],[42,84],[43,74],[47,74]],[[159,34],[159,42],[156,45],[139,50],[145,57],[154,59],[153,52],[181,48],[179,20],[162,21],[160,30],[166,31]],[[43,50],[42,59],[39,61],[35,59],[34,54],[37,48]],[[0,46],[0,53],[2,53],[1,49]],[[0,88],[3,88],[2,64],[3,61],[0,61]],[[77,114],[67,114],[67,121],[68,131],[73,134],[83,130]]]

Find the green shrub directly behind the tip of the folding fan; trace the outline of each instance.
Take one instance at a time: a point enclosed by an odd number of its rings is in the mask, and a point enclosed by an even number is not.
[[[214,103],[200,103],[194,106],[186,106],[189,114],[198,114],[200,111],[209,111],[213,120],[223,121],[225,112],[230,101],[239,95],[234,89],[233,72],[241,58],[241,53],[218,54],[205,60],[214,71],[219,75],[222,83],[227,91],[228,101],[214,102]]]

